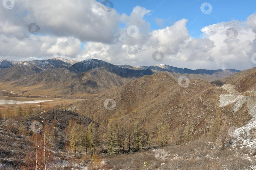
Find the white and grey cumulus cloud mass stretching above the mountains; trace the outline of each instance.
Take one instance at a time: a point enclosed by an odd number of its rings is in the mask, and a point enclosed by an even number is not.
[[[251,62],[256,53],[256,19],[232,26],[225,25],[236,20],[208,25],[201,29],[204,35],[189,37],[187,19],[166,27],[156,19],[161,29],[151,30],[145,20],[151,11],[141,6],[126,15],[115,9],[107,12],[95,0],[15,0],[13,9],[1,10],[0,59],[49,59],[64,51],[66,59],[147,66],[159,64],[152,58],[159,50],[164,54],[162,63],[176,67],[243,70],[256,66]],[[38,34],[28,31],[30,23],[40,26]],[[228,28],[238,32],[236,38],[227,37]]]

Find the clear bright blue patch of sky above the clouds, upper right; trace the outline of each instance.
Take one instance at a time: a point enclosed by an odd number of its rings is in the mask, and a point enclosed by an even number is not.
[[[99,2],[102,2],[102,0]],[[151,10],[151,15],[144,17],[150,23],[151,30],[162,29],[183,18],[188,19],[187,29],[190,35],[200,32],[200,29],[204,26],[222,21],[245,19],[249,15],[254,14],[256,10],[255,0],[112,0],[112,2],[114,9],[120,14],[130,15],[133,8],[137,5]],[[200,10],[201,4],[205,2],[212,5],[212,12],[210,14],[204,14]],[[157,24],[156,19],[163,20],[163,24]]]

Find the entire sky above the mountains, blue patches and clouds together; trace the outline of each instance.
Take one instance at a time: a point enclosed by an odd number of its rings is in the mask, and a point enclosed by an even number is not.
[[[10,8],[0,5],[0,59],[95,58],[112,64],[190,69],[256,66],[256,0],[110,1],[111,11],[102,6],[103,0],[20,0]],[[204,3],[212,7],[210,14],[203,13],[208,11],[207,6],[201,9]],[[250,20],[237,22],[247,17]],[[40,27],[36,34],[28,27],[33,23]],[[201,30],[204,35],[192,36]],[[164,60],[156,61],[155,51],[162,52]]]

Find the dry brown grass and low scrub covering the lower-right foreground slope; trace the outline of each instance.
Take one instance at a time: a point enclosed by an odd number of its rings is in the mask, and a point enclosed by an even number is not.
[[[243,157],[247,154],[245,150],[237,153],[231,147],[220,150],[212,149],[212,145],[213,141],[197,140],[189,144],[164,147],[161,148],[167,152],[164,161],[157,160],[155,150],[152,149],[129,155],[107,156],[103,160],[108,167],[123,170],[142,169],[146,161],[150,163],[149,169],[159,170],[246,170],[256,163],[254,157]]]

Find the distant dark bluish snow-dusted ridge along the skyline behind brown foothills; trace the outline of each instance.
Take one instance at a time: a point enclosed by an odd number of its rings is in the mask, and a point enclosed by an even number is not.
[[[123,69],[126,69],[129,72],[133,72],[134,70],[152,70],[153,72],[168,71],[168,72],[180,73],[180,74],[199,74],[202,76],[212,76],[218,79],[240,72],[240,70],[235,70],[235,69],[192,70],[187,68],[183,69],[183,68],[173,67],[166,64],[156,64],[152,66],[113,65],[98,59],[87,59],[83,61],[76,61],[76,60],[67,60],[64,58],[52,58],[52,59],[32,60],[32,61],[26,61],[26,62],[33,64],[34,66],[42,69],[43,71],[49,71],[55,68],[67,68],[70,71],[73,71],[75,73],[85,72],[90,69],[101,67],[103,65],[109,65],[109,66],[112,66],[113,68],[121,67]],[[0,69],[9,68],[18,63],[24,63],[24,62],[12,61],[12,60],[0,60]]]

